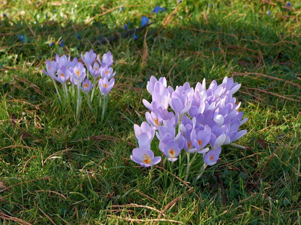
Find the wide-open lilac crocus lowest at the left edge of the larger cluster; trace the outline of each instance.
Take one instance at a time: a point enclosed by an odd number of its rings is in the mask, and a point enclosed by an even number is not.
[[[151,142],[146,133],[141,133],[138,139],[139,148],[133,149],[131,160],[140,164],[142,167],[150,167],[158,164],[161,157],[154,157],[154,152],[151,151]]]

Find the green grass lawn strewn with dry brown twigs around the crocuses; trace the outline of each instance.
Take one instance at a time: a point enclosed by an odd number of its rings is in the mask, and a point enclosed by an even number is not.
[[[298,1],[291,9],[284,1],[74,2],[2,3],[0,224],[301,223]],[[150,14],[156,5],[166,11]],[[124,32],[123,23],[140,26],[142,15],[157,22],[137,41],[95,44]],[[55,54],[74,57],[91,48],[111,50],[116,81],[104,121],[84,100],[76,123],[76,106],[58,104],[42,68]],[[129,159],[132,122],[143,121],[151,75],[166,76],[173,87],[203,78],[208,87],[233,76],[249,117],[247,134],[235,144],[247,149],[223,146],[218,163],[192,188],[181,167],[138,167]],[[196,162],[189,182],[199,168]]]

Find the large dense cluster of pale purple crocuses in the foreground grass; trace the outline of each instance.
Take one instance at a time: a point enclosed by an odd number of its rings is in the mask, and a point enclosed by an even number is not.
[[[151,76],[147,82],[147,91],[152,101],[143,100],[151,112],[145,113],[147,122],[134,125],[139,148],[133,150],[131,159],[143,167],[160,162],[154,157],[150,143],[156,134],[161,155],[172,163],[178,160],[181,152],[187,155],[186,177],[190,166],[201,155],[203,170],[216,164],[221,153],[221,146],[242,137],[247,130],[239,130],[246,122],[239,112],[240,103],[232,95],[240,88],[233,78],[227,76],[220,85],[213,80],[206,89],[205,79],[195,88],[186,82],[173,89],[167,87],[166,78],[157,80]],[[190,154],[194,154],[190,159]],[[200,158],[200,157],[199,157]]]

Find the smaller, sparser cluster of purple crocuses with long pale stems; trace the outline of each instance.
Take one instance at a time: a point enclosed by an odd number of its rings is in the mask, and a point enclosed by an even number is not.
[[[55,60],[49,61],[46,60],[46,70],[42,70],[44,74],[51,77],[53,80],[55,89],[57,91],[57,95],[59,97],[59,101],[62,102],[61,99],[61,91],[57,88],[56,82],[58,81],[62,84],[62,92],[64,96],[64,104],[69,102],[69,94],[67,83],[72,84],[72,96],[75,96],[74,86],[77,86],[77,104],[76,104],[76,119],[79,117],[80,107],[82,104],[82,96],[81,91],[85,92],[87,96],[88,106],[91,112],[93,113],[92,102],[95,94],[95,86],[98,82],[99,96],[100,96],[100,104],[101,99],[104,98],[103,102],[103,110],[102,110],[102,119],[104,118],[104,111],[106,108],[106,96],[109,91],[113,88],[115,83],[115,79],[113,78],[116,72],[113,72],[113,68],[111,67],[113,64],[113,56],[111,52],[107,52],[102,55],[102,60],[100,55],[97,55],[91,49],[89,52],[86,52],[85,55],[81,53],[83,63],[79,62],[75,57],[71,60],[70,55],[56,55]],[[95,60],[97,61],[95,62]],[[91,82],[91,78],[89,79],[89,73],[93,78],[93,82]],[[98,80],[98,77],[100,79]],[[70,81],[70,82],[69,82]],[[89,97],[89,92],[92,90],[91,98]]]

